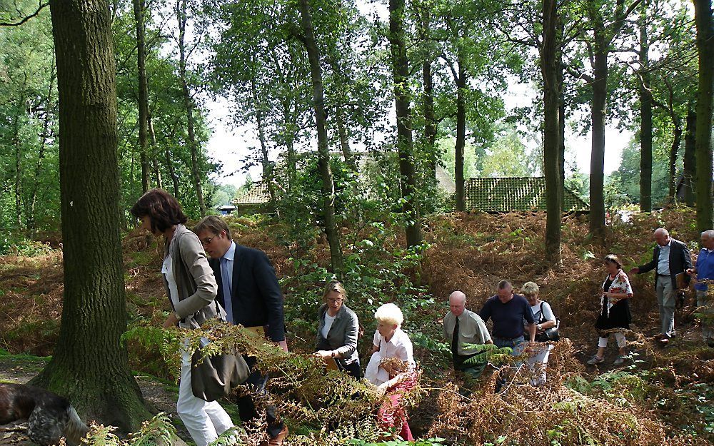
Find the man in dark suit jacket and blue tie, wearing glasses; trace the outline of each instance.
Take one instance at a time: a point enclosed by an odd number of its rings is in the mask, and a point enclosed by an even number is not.
[[[208,216],[193,228],[206,253],[211,256],[208,264],[213,269],[218,283],[216,300],[226,310],[228,321],[244,327],[261,327],[266,338],[286,352],[285,321],[283,318],[283,293],[268,256],[261,250],[246,248],[233,242],[231,230],[222,218]],[[256,358],[246,357],[253,368]],[[268,377],[253,371],[246,384],[263,391]],[[281,445],[288,435],[288,427],[276,420],[275,407],[266,407],[268,418],[267,445]],[[252,420],[258,414],[253,397],[238,398],[241,421]]]

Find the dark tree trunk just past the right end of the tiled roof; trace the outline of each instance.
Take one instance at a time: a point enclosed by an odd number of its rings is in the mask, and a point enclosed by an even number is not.
[[[590,153],[590,233],[597,240],[605,235],[605,115],[608,98],[608,51],[595,31],[595,62],[591,110],[593,146]]]

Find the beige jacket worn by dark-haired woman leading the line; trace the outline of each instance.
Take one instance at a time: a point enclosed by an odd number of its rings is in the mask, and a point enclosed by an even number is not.
[[[218,285],[198,236],[186,226],[177,225],[164,254],[171,254],[173,260],[172,269],[178,288],[178,303],[174,311],[181,317],[181,325],[199,328],[205,320],[216,317],[216,308],[221,317],[225,318],[223,308],[214,304]],[[164,285],[167,295],[170,295],[166,280]]]

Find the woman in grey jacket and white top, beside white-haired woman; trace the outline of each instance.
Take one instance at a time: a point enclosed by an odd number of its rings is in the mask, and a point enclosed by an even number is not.
[[[355,312],[344,305],[347,300],[345,287],[333,280],[327,284],[323,300],[325,303],[318,311],[320,323],[315,355],[335,358],[340,370],[359,380],[362,377],[357,353],[359,321]]]

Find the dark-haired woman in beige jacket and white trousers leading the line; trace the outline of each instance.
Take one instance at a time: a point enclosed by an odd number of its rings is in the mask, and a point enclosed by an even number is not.
[[[166,318],[164,328],[200,328],[203,321],[214,318],[223,309],[214,304],[218,286],[208,266],[198,236],[183,225],[186,216],[174,196],[161,189],[144,193],[131,208],[141,220],[141,228],[155,236],[164,235],[164,285],[174,311]],[[233,427],[218,402],[206,402],[191,391],[191,352],[181,358],[181,381],[178,385],[178,416],[197,446],[206,446]]]

